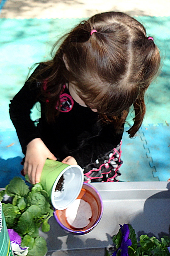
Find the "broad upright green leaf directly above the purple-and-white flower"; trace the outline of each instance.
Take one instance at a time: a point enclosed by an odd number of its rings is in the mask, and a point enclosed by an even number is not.
[[[30,212],[25,211],[19,218],[17,231],[20,234],[29,234],[32,235],[36,230],[33,216]]]

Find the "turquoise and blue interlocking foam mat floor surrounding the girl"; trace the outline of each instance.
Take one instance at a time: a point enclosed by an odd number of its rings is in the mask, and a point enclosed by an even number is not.
[[[154,37],[162,57],[159,77],[146,93],[146,117],[136,137],[122,139],[121,181],[170,178],[170,17],[136,17]],[[10,99],[23,86],[30,67],[50,59],[53,44],[83,19],[0,19],[0,187],[19,176],[23,154],[9,117]],[[32,119],[39,117],[34,107]],[[128,121],[131,123],[131,114]],[[150,125],[148,125],[150,124]],[[151,125],[152,124],[152,125]],[[126,125],[127,129],[127,125]]]

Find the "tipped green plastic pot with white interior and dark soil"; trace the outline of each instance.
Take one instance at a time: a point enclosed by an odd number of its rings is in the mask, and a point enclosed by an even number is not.
[[[63,175],[61,191],[56,190]],[[58,210],[68,208],[80,194],[83,186],[83,170],[78,165],[68,165],[47,159],[41,174],[40,182],[49,193],[53,207]]]

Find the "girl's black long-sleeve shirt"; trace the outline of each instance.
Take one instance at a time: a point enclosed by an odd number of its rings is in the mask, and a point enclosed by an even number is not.
[[[10,118],[24,154],[32,139],[41,138],[58,161],[73,156],[85,168],[120,143],[123,131],[117,133],[112,123],[104,124],[97,112],[75,101],[69,112],[60,112],[55,123],[49,124],[45,115],[47,103],[37,98],[40,94],[39,83],[34,80],[30,84],[29,78],[10,103]],[[65,90],[69,94],[68,89]],[[35,126],[30,113],[37,101],[41,104],[41,118]]]

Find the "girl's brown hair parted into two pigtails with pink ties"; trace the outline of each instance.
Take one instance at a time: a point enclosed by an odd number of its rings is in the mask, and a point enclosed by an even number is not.
[[[90,35],[94,29],[97,32]],[[160,67],[159,50],[146,37],[143,25],[124,13],[105,12],[80,22],[62,40],[41,70],[49,70],[46,90],[43,84],[41,88],[49,99],[47,120],[51,122],[59,113],[55,106],[63,85],[72,82],[85,104],[97,109],[104,122],[114,122],[117,130],[133,105],[134,125],[128,131],[133,137],[146,112],[144,94]]]

